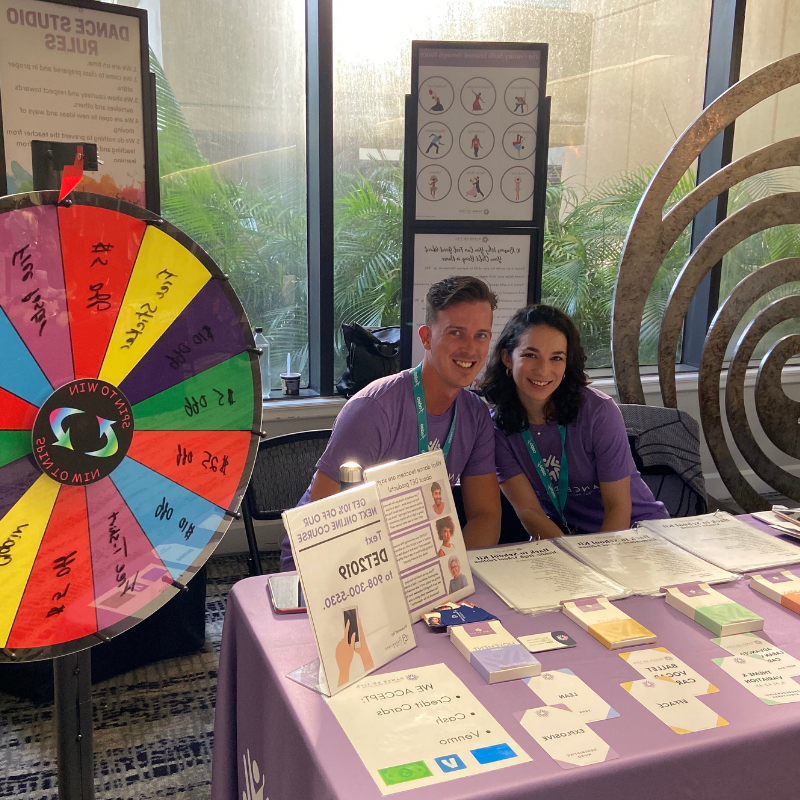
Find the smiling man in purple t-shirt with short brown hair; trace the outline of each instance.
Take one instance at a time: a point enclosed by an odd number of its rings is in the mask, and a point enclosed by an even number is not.
[[[431,286],[425,304],[421,370],[380,378],[350,398],[300,504],[336,494],[345,461],[367,468],[410,458],[427,439],[425,449],[445,452],[450,484],[461,481],[466,546],[487,547],[500,538],[494,431],[484,402],[464,387],[475,380],[489,353],[497,298],[478,278],[455,276]],[[415,392],[412,373],[417,370],[421,391]],[[294,569],[288,537],[281,545],[281,569]]]

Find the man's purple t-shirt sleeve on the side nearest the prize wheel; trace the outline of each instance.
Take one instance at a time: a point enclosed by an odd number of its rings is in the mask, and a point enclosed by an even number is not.
[[[380,403],[371,397],[353,397],[339,412],[317,469],[338,481],[339,467],[345,461],[355,461],[365,468],[374,466],[380,462],[390,434]]]

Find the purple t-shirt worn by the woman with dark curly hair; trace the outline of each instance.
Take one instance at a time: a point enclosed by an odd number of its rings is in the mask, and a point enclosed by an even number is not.
[[[558,491],[561,466],[561,437],[558,425],[530,425],[536,449]],[[531,483],[545,514],[560,521],[547,496],[542,479],[533,465],[521,433],[510,436],[495,428],[497,479],[503,481],[524,474]],[[643,519],[669,517],[663,503],[653,497],[636,469],[628,444],[622,414],[614,400],[589,386],[581,389],[581,404],[576,420],[567,425],[566,455],[569,491],[564,515],[567,522],[582,531],[594,533],[603,524],[603,498],[600,482],[631,479],[631,524]]]

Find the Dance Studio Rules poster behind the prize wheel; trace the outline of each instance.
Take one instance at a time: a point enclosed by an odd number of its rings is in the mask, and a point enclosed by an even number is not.
[[[9,194],[33,189],[31,140],[97,144],[78,191],[145,205],[139,18],[0,0],[0,110]]]

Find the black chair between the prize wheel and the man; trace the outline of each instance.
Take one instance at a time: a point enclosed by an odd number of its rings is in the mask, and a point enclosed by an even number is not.
[[[280,519],[282,511],[297,505],[330,437],[329,429],[300,431],[259,443],[256,465],[242,501],[251,575],[264,574],[253,520]]]

